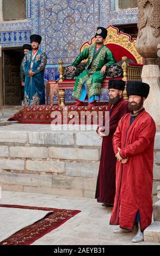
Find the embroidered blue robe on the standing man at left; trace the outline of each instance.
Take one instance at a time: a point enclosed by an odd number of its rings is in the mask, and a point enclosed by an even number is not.
[[[24,86],[24,104],[27,106],[45,104],[44,70],[47,63],[45,52],[38,50],[32,57],[32,51],[27,52],[23,59],[23,70],[26,75]],[[32,65],[33,64],[33,65]],[[29,77],[32,68],[35,75]]]

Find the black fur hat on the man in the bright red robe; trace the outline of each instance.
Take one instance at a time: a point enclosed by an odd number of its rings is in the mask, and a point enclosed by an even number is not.
[[[127,96],[138,95],[147,98],[150,92],[150,86],[147,83],[139,81],[130,81],[126,85]]]

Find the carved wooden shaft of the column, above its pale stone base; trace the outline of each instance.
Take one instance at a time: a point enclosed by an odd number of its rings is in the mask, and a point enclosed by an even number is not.
[[[148,65],[155,64],[157,46],[160,42],[160,2],[159,0],[139,0],[138,36],[136,48],[146,58]]]

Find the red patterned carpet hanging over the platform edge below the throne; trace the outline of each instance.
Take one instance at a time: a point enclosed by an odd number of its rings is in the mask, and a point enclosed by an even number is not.
[[[8,121],[16,120],[22,124],[88,124],[89,122],[97,124],[99,117],[105,115],[105,111],[107,111],[107,102],[95,107],[26,106]]]

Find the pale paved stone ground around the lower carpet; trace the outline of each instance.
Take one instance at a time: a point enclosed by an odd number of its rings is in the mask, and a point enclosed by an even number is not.
[[[135,233],[114,234],[118,226],[109,225],[112,208],[103,208],[95,199],[2,191],[0,203],[82,211],[32,245],[156,245],[132,243]]]

